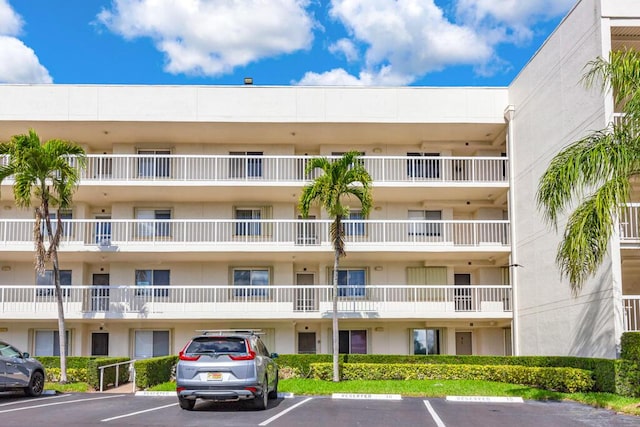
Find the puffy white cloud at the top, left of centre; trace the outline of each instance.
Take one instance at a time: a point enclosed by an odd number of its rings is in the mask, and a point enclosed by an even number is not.
[[[170,73],[219,76],[309,49],[310,0],[114,0],[98,20],[125,38],[149,37]]]

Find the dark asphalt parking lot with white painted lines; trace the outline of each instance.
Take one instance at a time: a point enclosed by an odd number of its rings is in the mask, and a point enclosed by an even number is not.
[[[508,402],[375,396],[297,396],[265,411],[199,401],[181,410],[171,395],[69,393],[25,398],[0,393],[2,425],[29,426],[638,426],[640,418],[568,402]]]

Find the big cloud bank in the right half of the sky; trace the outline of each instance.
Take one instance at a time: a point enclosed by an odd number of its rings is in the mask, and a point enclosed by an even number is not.
[[[448,18],[434,0],[332,0],[330,16],[349,38],[329,47],[364,62],[358,76],[343,69],[307,73],[301,84],[408,84],[429,72],[469,65],[490,76],[511,65],[496,47],[526,43],[541,21],[563,15],[575,0],[452,0]]]

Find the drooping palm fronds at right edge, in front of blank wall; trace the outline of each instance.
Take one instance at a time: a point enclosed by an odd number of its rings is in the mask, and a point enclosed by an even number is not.
[[[625,119],[571,143],[552,160],[540,179],[537,203],[557,230],[560,216],[574,202],[556,263],[574,295],[593,276],[607,252],[621,204],[629,201],[630,182],[640,174],[640,53],[611,52],[609,60],[590,61],[582,82],[612,92]]]

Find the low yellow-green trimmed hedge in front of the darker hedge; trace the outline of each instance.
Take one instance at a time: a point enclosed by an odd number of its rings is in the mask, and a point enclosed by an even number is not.
[[[313,363],[311,370],[316,379],[330,380],[333,376],[331,363]],[[591,372],[583,369],[517,365],[346,363],[341,366],[341,378],[344,380],[486,380],[567,393],[590,391],[594,386]]]

